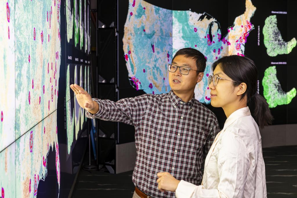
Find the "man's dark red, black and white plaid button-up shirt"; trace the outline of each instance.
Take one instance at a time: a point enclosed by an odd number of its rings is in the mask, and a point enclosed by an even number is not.
[[[132,180],[151,197],[175,197],[158,190],[157,173],[169,172],[178,180],[200,185],[201,165],[219,132],[216,116],[195,97],[189,102],[170,91],[144,94],[117,102],[93,99],[99,111],[88,118],[135,126],[137,158]]]

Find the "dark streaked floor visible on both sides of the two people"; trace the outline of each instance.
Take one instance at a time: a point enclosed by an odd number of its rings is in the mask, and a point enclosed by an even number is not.
[[[263,148],[263,157],[267,197],[297,197],[297,145]],[[72,197],[132,198],[133,192],[132,171],[110,174],[80,170]]]

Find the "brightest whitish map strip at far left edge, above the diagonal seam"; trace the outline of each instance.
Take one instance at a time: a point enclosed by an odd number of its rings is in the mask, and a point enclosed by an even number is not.
[[[0,94],[0,152],[15,141],[14,3],[15,1],[0,1],[0,84],[3,85]]]

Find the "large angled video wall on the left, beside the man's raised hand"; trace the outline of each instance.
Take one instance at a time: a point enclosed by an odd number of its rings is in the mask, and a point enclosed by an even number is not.
[[[90,90],[89,7],[88,0],[0,3],[2,198],[69,193],[69,160],[87,121],[69,85]]]

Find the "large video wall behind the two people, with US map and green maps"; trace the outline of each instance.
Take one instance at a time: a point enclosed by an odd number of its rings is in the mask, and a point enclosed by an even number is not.
[[[120,73],[125,74],[119,76],[120,89],[133,87],[134,95],[170,91],[167,64],[178,49],[192,47],[207,59],[195,97],[209,107],[211,64],[221,56],[248,56],[258,67],[257,91],[268,102],[274,124],[297,122],[296,1],[129,0],[119,4]]]

